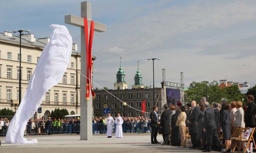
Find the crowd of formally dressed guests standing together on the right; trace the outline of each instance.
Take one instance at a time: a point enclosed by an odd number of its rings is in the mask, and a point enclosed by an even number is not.
[[[221,151],[230,153],[231,135],[234,128],[256,127],[256,103],[254,96],[247,96],[248,107],[241,101],[232,101],[222,98],[221,103],[212,105],[201,98],[200,103],[195,100],[186,105],[178,102],[176,106],[163,105],[163,113],[159,118],[156,106],[150,114],[151,143],[159,143],[156,139],[158,131],[163,135],[162,145],[186,147],[185,129],[188,129],[192,146],[190,148],[202,152]],[[169,109],[169,110],[168,110]],[[222,129],[223,144],[218,136]],[[170,136],[170,139],[168,139]],[[255,136],[254,136],[255,137]]]

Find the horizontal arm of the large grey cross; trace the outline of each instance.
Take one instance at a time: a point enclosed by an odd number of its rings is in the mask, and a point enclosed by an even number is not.
[[[65,15],[65,23],[66,24],[71,24],[73,26],[84,27],[83,18],[77,17],[75,15]],[[90,27],[90,25],[91,25],[91,20],[88,20],[88,27]],[[99,22],[94,22],[94,31],[105,32],[106,31],[106,25],[101,24]]]

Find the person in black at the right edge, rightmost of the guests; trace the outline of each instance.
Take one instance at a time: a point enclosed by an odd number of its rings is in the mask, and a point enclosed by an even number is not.
[[[249,103],[248,108],[245,112],[245,127],[255,127],[256,126],[256,103],[254,102],[254,96],[248,95],[247,101]]]

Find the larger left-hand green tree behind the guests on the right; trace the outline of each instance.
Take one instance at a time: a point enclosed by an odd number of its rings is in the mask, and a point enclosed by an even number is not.
[[[188,90],[185,91],[185,101],[191,102],[195,100],[197,103],[201,101],[202,97],[206,97],[209,103],[219,102],[221,98],[224,97],[224,92],[221,88],[219,88],[219,84],[217,81],[202,81],[195,82],[193,81]]]

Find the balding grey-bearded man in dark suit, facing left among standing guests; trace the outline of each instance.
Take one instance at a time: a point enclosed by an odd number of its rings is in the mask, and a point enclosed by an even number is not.
[[[191,110],[190,110],[190,115],[188,118],[188,130],[189,134],[191,137],[191,143],[192,146],[190,148],[196,149],[196,144],[197,144],[197,124],[195,122],[195,116],[198,111],[198,107],[196,107],[196,102],[193,100],[191,101]]]

